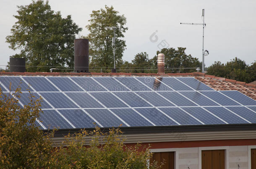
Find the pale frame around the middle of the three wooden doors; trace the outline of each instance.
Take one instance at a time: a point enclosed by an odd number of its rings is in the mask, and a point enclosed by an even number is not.
[[[202,169],[202,150],[225,150],[225,169],[229,169],[229,146],[199,147],[198,167]]]

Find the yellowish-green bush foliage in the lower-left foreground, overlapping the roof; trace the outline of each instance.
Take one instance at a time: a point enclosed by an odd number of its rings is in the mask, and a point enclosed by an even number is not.
[[[0,168],[1,169],[156,169],[148,164],[152,157],[146,147],[126,146],[120,129],[80,132],[65,136],[59,147],[53,146],[56,130],[43,133],[36,125],[43,113],[41,99],[24,108],[18,106],[20,89],[15,93],[0,90]],[[13,95],[13,96],[11,96]],[[38,122],[37,122],[38,123]],[[90,141],[86,141],[86,140]],[[87,146],[84,146],[87,145]],[[162,164],[163,165],[163,164]]]

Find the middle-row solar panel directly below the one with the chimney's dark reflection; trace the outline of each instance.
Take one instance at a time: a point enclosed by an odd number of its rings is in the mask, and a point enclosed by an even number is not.
[[[158,93],[170,100],[172,103],[176,104],[177,106],[196,106],[195,103],[181,96],[176,91],[163,91]]]

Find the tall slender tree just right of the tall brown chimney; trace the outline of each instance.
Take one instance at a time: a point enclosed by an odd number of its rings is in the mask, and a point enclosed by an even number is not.
[[[114,8],[107,7],[101,8],[100,10],[93,10],[89,25],[86,28],[89,30],[89,35],[85,38],[89,39],[90,43],[90,60],[91,67],[113,67],[114,56],[113,56],[113,45],[112,38],[114,35],[113,30],[105,29],[106,27],[116,27],[115,30],[115,60],[122,62],[123,51],[125,50],[125,40],[123,33],[128,30],[125,27],[126,18],[124,15],[118,15],[118,11]]]

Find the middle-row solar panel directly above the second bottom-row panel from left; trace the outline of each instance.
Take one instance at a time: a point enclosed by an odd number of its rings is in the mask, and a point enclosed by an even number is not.
[[[63,93],[40,93],[55,108],[78,108]]]

